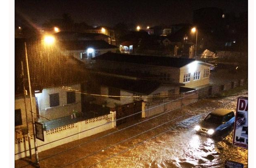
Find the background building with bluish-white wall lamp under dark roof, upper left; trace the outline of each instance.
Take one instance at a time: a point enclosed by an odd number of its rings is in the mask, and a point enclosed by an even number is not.
[[[103,40],[62,41],[59,45],[63,49],[63,55],[73,56],[84,63],[90,63],[91,58],[106,52],[116,52],[118,50],[118,47]]]

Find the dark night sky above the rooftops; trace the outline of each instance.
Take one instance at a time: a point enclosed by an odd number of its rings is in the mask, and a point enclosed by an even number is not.
[[[15,0],[15,11],[42,25],[69,13],[75,22],[113,26],[192,23],[193,10],[218,7],[224,12],[248,11],[247,0]],[[15,18],[16,20],[18,19]]]

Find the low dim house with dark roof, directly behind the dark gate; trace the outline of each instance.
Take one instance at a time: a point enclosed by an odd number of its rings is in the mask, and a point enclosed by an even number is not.
[[[102,95],[91,96],[94,98],[91,103],[114,108],[140,100],[154,102],[161,98],[179,95],[179,84],[97,72],[91,73],[86,92]]]

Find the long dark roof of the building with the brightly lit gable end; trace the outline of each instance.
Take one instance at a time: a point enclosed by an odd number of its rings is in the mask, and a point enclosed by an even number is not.
[[[104,60],[104,61],[116,61],[116,62],[122,62],[122,63],[137,63],[137,64],[155,65],[155,66],[168,66],[168,67],[176,67],[176,68],[180,68],[196,60],[196,59],[175,58],[175,57],[165,57],[165,56],[129,55],[129,54],[119,54],[119,53],[112,53],[112,52],[107,52],[93,59]]]

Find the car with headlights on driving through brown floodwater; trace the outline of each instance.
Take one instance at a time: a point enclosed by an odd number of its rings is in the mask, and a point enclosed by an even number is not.
[[[235,114],[229,109],[216,109],[210,112],[208,116],[194,130],[197,133],[203,133],[209,136],[220,135],[222,131],[234,126]]]

